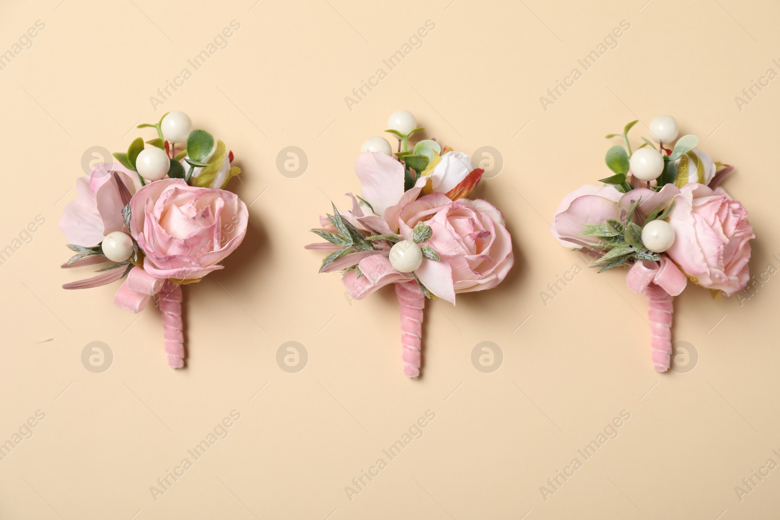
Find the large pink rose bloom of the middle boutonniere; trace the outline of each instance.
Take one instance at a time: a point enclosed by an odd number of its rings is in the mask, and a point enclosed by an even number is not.
[[[431,226],[433,234],[420,246],[430,246],[440,260],[423,260],[414,271],[429,291],[455,304],[460,292],[493,288],[506,278],[515,257],[504,217],[484,200],[449,200],[431,193],[406,204],[399,214],[399,232],[412,239],[417,222]]]

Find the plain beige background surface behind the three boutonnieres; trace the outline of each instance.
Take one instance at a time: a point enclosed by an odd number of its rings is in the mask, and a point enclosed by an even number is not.
[[[0,51],[38,19],[45,29],[0,70],[0,248],[37,215],[45,224],[0,266],[0,440],[45,419],[0,461],[0,518],[774,518],[780,470],[742,501],[734,488],[780,462],[780,80],[741,111],[734,98],[780,73],[780,6],[451,1],[4,2]],[[193,71],[187,59],[234,19]],[[344,98],[428,19],[422,47],[350,111]],[[545,111],[539,97],[621,20],[617,47]],[[185,67],[155,111],[149,98]],[[499,150],[502,172],[477,195],[504,211],[517,256],[491,292],[427,307],[420,380],[402,377],[392,291],[349,302],[302,249],[329,200],[359,188],[358,147],[397,108],[456,149]],[[115,309],[116,284],[66,292],[90,269],[58,268],[85,150],[151,139],[133,126],[168,110],[225,140],[252,203],[225,270],[186,289],[181,371],[165,365],[154,307]],[[547,306],[540,292],[582,264],[548,221],[565,193],[607,175],[603,136],[636,118],[639,141],[664,113],[736,164],[725,187],[750,210],[750,267],[766,274],[749,300],[675,299],[675,340],[698,359],[658,374],[646,304],[622,273],[586,270]],[[305,151],[303,175],[278,171],[288,146]],[[103,373],[81,363],[91,341],[112,350]],[[278,366],[285,341],[304,345],[304,370]],[[493,373],[471,362],[481,341],[502,352]],[[154,501],[150,486],[232,410],[228,437]],[[350,501],[345,486],[427,410],[423,437]],[[584,461],[577,450],[622,410],[618,437]],[[573,458],[582,467],[545,501],[540,486]]]

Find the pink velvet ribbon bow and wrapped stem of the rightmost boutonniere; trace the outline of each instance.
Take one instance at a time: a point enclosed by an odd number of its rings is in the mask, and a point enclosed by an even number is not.
[[[647,297],[652,359],[655,370],[669,370],[672,356],[672,300],[683,292],[687,278],[667,256],[660,262],[637,261],[626,274],[626,285]]]

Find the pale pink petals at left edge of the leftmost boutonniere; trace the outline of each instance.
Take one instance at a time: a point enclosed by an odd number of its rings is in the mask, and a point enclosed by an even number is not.
[[[59,228],[70,244],[83,247],[97,246],[105,235],[123,231],[122,196],[112,172],[132,196],[140,187],[136,172],[130,172],[122,164],[101,164],[88,175],[76,179],[76,200],[62,211]]]

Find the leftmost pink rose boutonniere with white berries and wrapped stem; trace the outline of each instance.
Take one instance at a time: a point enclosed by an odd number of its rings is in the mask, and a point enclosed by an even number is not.
[[[76,180],[78,197],[59,228],[76,254],[62,267],[106,264],[100,274],[63,285],[81,289],[125,278],[114,296],[138,313],[157,295],[168,365],[184,366],[182,285],[200,281],[246,235],[246,205],[225,190],[240,173],[225,143],[192,129],[183,112],[169,112],[138,137],[114,164],[98,164]]]

